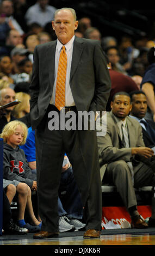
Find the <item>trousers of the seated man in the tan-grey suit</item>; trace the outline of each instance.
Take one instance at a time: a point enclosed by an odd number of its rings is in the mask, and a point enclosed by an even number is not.
[[[155,161],[152,161],[150,166],[144,163],[141,168],[137,169],[134,173],[134,187],[155,186],[154,171]],[[103,183],[108,182],[109,184],[116,186],[127,209],[137,205],[137,199],[132,185],[131,172],[127,162],[119,160],[109,163],[102,181]],[[152,210],[153,209],[154,205],[152,205]]]

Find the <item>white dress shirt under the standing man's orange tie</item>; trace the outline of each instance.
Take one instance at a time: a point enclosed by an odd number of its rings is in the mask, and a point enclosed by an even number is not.
[[[75,40],[75,36],[67,42],[65,45],[66,47],[66,54],[67,54],[67,71],[66,71],[66,87],[65,87],[65,106],[71,107],[75,106],[75,102],[73,100],[71,88],[70,88],[70,73],[71,73],[71,63],[72,63],[72,53],[73,53],[73,41]],[[54,86],[53,86],[53,93],[51,97],[50,104],[55,105],[55,88],[57,82],[57,73],[58,73],[58,64],[59,64],[59,56],[61,52],[61,48],[63,44],[57,39],[57,46],[55,51],[55,72],[54,72]]]

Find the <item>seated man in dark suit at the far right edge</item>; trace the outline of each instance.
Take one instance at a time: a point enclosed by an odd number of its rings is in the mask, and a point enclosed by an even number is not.
[[[147,99],[142,91],[134,91],[130,93],[132,110],[129,117],[139,121],[142,127],[142,135],[146,147],[153,148],[155,145],[155,123],[151,120],[146,120]]]

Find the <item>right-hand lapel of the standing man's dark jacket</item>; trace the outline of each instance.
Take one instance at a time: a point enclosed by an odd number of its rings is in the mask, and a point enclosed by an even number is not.
[[[70,80],[73,77],[73,74],[75,73],[80,57],[82,55],[83,51],[83,40],[80,38],[77,38],[75,36],[75,41],[73,45],[73,55],[72,55],[72,64],[71,64],[71,74],[70,74]]]

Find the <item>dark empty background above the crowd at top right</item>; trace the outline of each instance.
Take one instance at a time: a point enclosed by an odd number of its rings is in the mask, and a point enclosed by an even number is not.
[[[113,35],[120,38],[127,34],[135,40],[142,36],[155,38],[155,8],[150,1],[140,3],[138,1],[49,0],[49,4],[56,8],[74,8],[78,20],[83,16],[90,17],[92,26],[100,29],[102,36]]]

